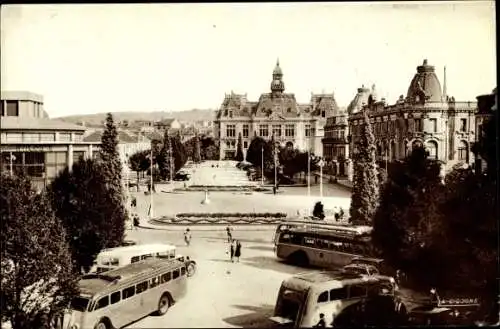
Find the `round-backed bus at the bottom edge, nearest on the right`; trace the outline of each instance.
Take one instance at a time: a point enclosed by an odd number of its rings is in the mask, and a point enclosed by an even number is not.
[[[282,282],[270,320],[283,327],[314,327],[323,314],[326,326],[333,327],[377,320],[379,325],[396,324],[406,315],[396,293],[394,279],[388,276],[342,271],[297,274]],[[371,309],[363,308],[367,305]],[[377,319],[381,314],[384,319]],[[356,320],[361,322],[352,322]]]

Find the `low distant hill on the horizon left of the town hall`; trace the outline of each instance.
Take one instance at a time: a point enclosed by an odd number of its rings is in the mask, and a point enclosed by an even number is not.
[[[175,118],[179,121],[206,121],[214,120],[215,110],[211,109],[194,109],[189,111],[156,111],[156,112],[112,112],[115,121],[127,120],[129,122],[135,120],[151,120],[158,121],[167,118]],[[58,117],[70,123],[85,122],[86,125],[100,125],[106,118],[106,113],[70,115],[66,117]]]

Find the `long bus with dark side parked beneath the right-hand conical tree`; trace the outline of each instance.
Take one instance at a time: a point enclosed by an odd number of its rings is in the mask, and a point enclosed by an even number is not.
[[[370,226],[284,225],[277,230],[275,253],[295,265],[342,267],[355,258],[374,256]]]

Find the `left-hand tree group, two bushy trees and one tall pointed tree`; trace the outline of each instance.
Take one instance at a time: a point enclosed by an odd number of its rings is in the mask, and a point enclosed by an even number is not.
[[[81,270],[123,242],[128,214],[117,144],[108,114],[98,160],[80,159],[41,192],[23,174],[2,174],[2,323],[53,328],[78,294]]]

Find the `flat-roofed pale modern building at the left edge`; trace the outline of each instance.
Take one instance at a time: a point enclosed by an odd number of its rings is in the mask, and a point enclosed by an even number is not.
[[[2,172],[25,172],[41,189],[60,170],[92,156],[93,145],[83,141],[85,127],[49,119],[41,95],[2,91],[0,106]]]

